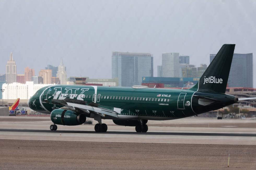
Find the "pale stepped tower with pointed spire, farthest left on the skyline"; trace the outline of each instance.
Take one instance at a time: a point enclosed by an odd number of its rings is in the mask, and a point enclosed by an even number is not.
[[[13,53],[10,54],[10,59],[7,61],[5,76],[7,84],[17,82],[17,67],[13,60]]]

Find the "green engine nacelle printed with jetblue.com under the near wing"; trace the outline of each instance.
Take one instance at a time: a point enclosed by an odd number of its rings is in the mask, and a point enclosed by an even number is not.
[[[71,110],[55,109],[51,112],[51,121],[55,124],[74,126],[83,124],[86,116]]]

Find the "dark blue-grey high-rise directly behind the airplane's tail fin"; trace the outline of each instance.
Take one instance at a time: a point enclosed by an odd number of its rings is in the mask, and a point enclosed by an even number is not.
[[[216,54],[210,54],[214,58]],[[234,53],[228,79],[229,87],[253,87],[253,53]]]

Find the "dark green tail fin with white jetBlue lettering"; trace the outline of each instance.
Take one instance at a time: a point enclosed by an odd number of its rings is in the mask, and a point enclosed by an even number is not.
[[[224,44],[191,90],[225,93],[234,49],[235,44]]]

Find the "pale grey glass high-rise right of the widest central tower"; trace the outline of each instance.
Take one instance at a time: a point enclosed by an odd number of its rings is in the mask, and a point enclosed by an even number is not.
[[[162,53],[162,77],[180,77],[179,53]]]

